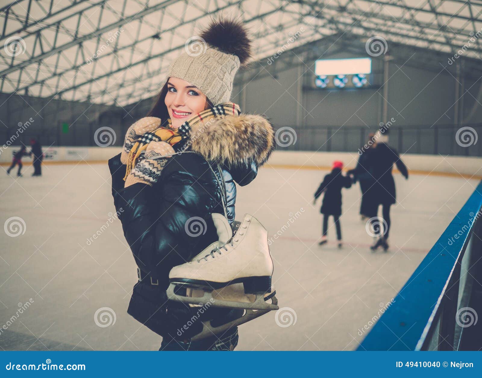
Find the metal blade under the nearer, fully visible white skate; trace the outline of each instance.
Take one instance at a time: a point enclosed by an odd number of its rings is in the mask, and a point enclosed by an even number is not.
[[[234,285],[230,285],[234,286]],[[242,287],[242,284],[241,284]],[[187,295],[175,293],[176,285],[171,283],[167,289],[167,297],[176,302],[194,304],[198,306],[214,306],[237,308],[244,310],[278,310],[277,303],[266,302],[274,297],[274,291],[267,294],[244,294],[242,291],[236,291],[229,286],[220,290],[206,291],[204,288],[191,288],[187,291]],[[189,290],[189,289],[187,289]]]

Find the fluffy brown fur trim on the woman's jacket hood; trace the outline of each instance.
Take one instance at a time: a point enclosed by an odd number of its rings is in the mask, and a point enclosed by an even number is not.
[[[228,166],[264,164],[276,147],[273,126],[262,115],[226,115],[190,131],[191,151]]]

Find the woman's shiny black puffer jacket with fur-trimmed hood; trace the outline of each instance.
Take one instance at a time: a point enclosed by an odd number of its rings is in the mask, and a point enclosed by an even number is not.
[[[258,115],[226,116],[190,134],[183,145],[174,145],[183,152],[169,158],[153,187],[136,183],[124,189],[120,154],[109,160],[114,204],[142,278],[134,285],[128,313],[161,336],[181,339],[199,332],[201,325],[194,322],[179,334],[192,322],[194,310],[167,301],[169,271],[217,240],[211,214],[224,214],[221,190],[228,203],[228,220],[234,221],[235,182],[249,184],[275,146],[272,126]],[[199,320],[230,316],[238,315],[212,307]]]

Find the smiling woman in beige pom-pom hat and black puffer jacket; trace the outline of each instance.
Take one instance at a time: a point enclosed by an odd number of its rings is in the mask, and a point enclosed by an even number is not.
[[[237,241],[232,236],[235,182],[244,186],[254,180],[275,147],[273,126],[265,117],[242,114],[229,102],[234,75],[251,57],[242,21],[213,20],[200,37],[206,48],[174,61],[148,117],[131,126],[124,150],[109,160],[114,203],[139,278],[127,312],[161,335],[160,350],[166,351],[236,347],[237,327],[191,339],[203,329],[202,321],[227,324],[243,316],[242,307],[170,301],[169,274],[196,258],[214,267],[228,254],[226,244],[222,251],[198,255],[222,237]],[[252,227],[255,219],[249,220]],[[239,235],[245,232],[241,228]],[[226,270],[213,271],[226,275]],[[263,275],[266,282],[271,273],[272,262]]]

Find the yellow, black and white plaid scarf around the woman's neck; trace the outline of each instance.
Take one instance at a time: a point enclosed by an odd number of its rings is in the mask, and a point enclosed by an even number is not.
[[[174,144],[177,142],[189,138],[191,136],[192,129],[198,130],[203,123],[206,123],[207,121],[210,121],[216,117],[223,118],[226,115],[239,115],[240,113],[241,109],[238,104],[235,104],[234,102],[225,102],[223,104],[215,105],[212,108],[203,110],[201,113],[195,114],[177,129],[172,128],[171,119],[168,118],[167,122],[169,124],[169,128],[159,127],[154,131],[141,135],[134,143],[134,146],[129,152],[124,181],[134,169],[135,164],[137,164],[139,159],[143,158],[142,155],[146,152],[147,145],[150,142],[164,141],[169,143],[171,146],[174,146]]]

